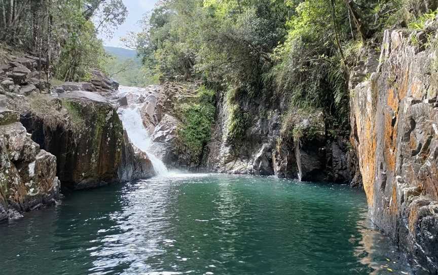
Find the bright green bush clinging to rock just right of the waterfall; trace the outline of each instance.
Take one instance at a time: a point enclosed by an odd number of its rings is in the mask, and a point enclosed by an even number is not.
[[[182,146],[196,161],[210,141],[211,125],[214,121],[215,93],[201,86],[195,102],[182,106],[182,124],[178,136]]]

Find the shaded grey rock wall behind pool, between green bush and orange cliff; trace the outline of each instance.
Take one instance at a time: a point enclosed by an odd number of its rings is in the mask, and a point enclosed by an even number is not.
[[[235,144],[228,140],[227,132],[231,108],[226,96],[219,96],[217,120],[208,145],[207,167],[210,170],[350,183],[354,177],[352,169],[356,168],[352,163],[354,158],[347,156],[350,149],[346,141],[326,136],[322,112],[297,113],[293,122],[285,122],[281,100],[268,104],[261,99],[248,99],[240,105],[250,114],[252,125],[239,144]],[[291,124],[291,129],[283,132],[284,123]],[[292,131],[303,134],[293,136]]]

